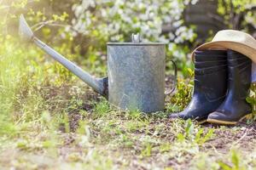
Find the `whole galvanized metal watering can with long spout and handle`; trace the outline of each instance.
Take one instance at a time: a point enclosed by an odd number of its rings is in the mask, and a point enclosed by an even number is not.
[[[148,113],[165,109],[166,43],[141,42],[139,35],[132,35],[132,42],[108,42],[108,77],[95,78],[35,37],[23,15],[20,36],[34,42],[121,110]]]

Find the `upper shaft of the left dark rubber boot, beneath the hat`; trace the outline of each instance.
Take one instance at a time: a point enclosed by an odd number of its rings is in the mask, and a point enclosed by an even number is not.
[[[227,92],[227,53],[224,50],[195,52],[194,94],[208,101],[221,99]]]

